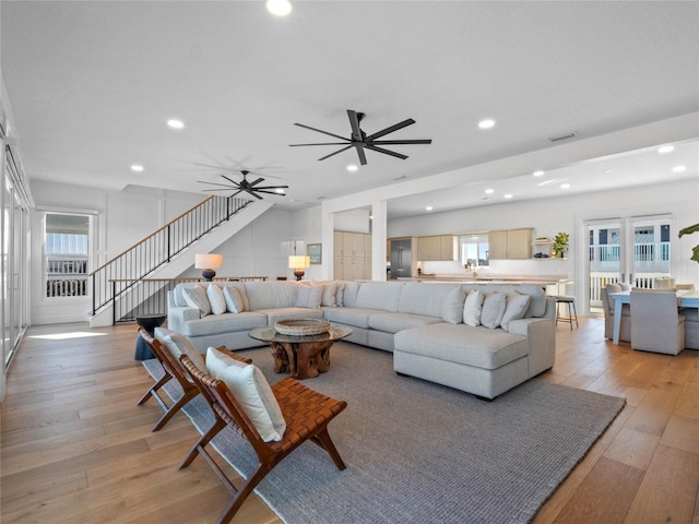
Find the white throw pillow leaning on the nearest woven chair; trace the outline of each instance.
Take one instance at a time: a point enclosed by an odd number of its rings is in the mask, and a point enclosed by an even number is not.
[[[223,380],[265,442],[280,441],[286,421],[272,388],[257,366],[230,358],[215,347],[206,352],[209,374]]]

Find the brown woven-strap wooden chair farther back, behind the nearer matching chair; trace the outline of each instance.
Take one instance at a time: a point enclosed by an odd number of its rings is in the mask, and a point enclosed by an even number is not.
[[[167,421],[173,418],[173,416],[177,412],[179,412],[189,401],[194,398],[199,394],[200,390],[199,386],[191,381],[189,374],[185,371],[180,362],[173,356],[173,354],[170,354],[170,352],[161,343],[161,341],[151,336],[151,334],[143,327],[139,327],[139,333],[165,370],[165,374],[157,382],[155,382],[149,389],[149,391],[145,392],[145,394],[138,403],[138,405],[140,406],[144,404],[149,398],[153,397],[161,405],[165,413],[163,414],[161,419],[155,422],[155,426],[153,426],[153,431],[157,431],[163,426],[165,426]],[[232,352],[228,352],[225,347],[220,347],[218,349],[225,350],[226,354],[247,364],[250,364],[252,361],[249,358],[240,357],[233,354]],[[165,398],[158,393],[158,391],[161,388],[163,388],[163,385],[165,385],[173,379],[180,385],[183,394],[175,402],[166,402]]]

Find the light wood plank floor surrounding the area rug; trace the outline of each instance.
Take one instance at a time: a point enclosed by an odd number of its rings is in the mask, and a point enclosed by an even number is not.
[[[38,337],[71,332],[92,336]],[[198,437],[187,417],[151,432],[159,407],[135,406],[151,379],[134,340],[133,325],[29,330],[1,406],[3,524],[216,521],[228,493],[213,472],[201,458],[176,467]],[[699,524],[699,352],[633,352],[605,341],[602,320],[581,319],[579,330],[558,326],[556,366],[542,380],[627,405],[535,524]],[[234,519],[277,522],[257,496]]]

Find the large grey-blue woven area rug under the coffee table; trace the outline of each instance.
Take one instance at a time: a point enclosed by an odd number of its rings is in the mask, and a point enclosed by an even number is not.
[[[269,349],[241,353],[270,382],[282,377]],[[537,380],[484,402],[396,376],[389,353],[339,343],[331,354],[330,371],[305,383],[347,401],[329,426],[347,468],[309,443],[272,471],[257,492],[289,524],[529,522],[625,403]],[[185,410],[200,431],[213,421],[201,397]],[[253,471],[236,432],[214,445],[244,476]]]

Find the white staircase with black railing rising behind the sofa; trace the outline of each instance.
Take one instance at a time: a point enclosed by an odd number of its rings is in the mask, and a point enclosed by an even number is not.
[[[115,302],[141,289],[142,278],[175,278],[191,267],[194,253],[208,253],[272,205],[230,196],[210,196],[92,272],[91,326],[111,325]],[[151,293],[151,291],[149,291]],[[143,300],[150,297],[144,296]]]

